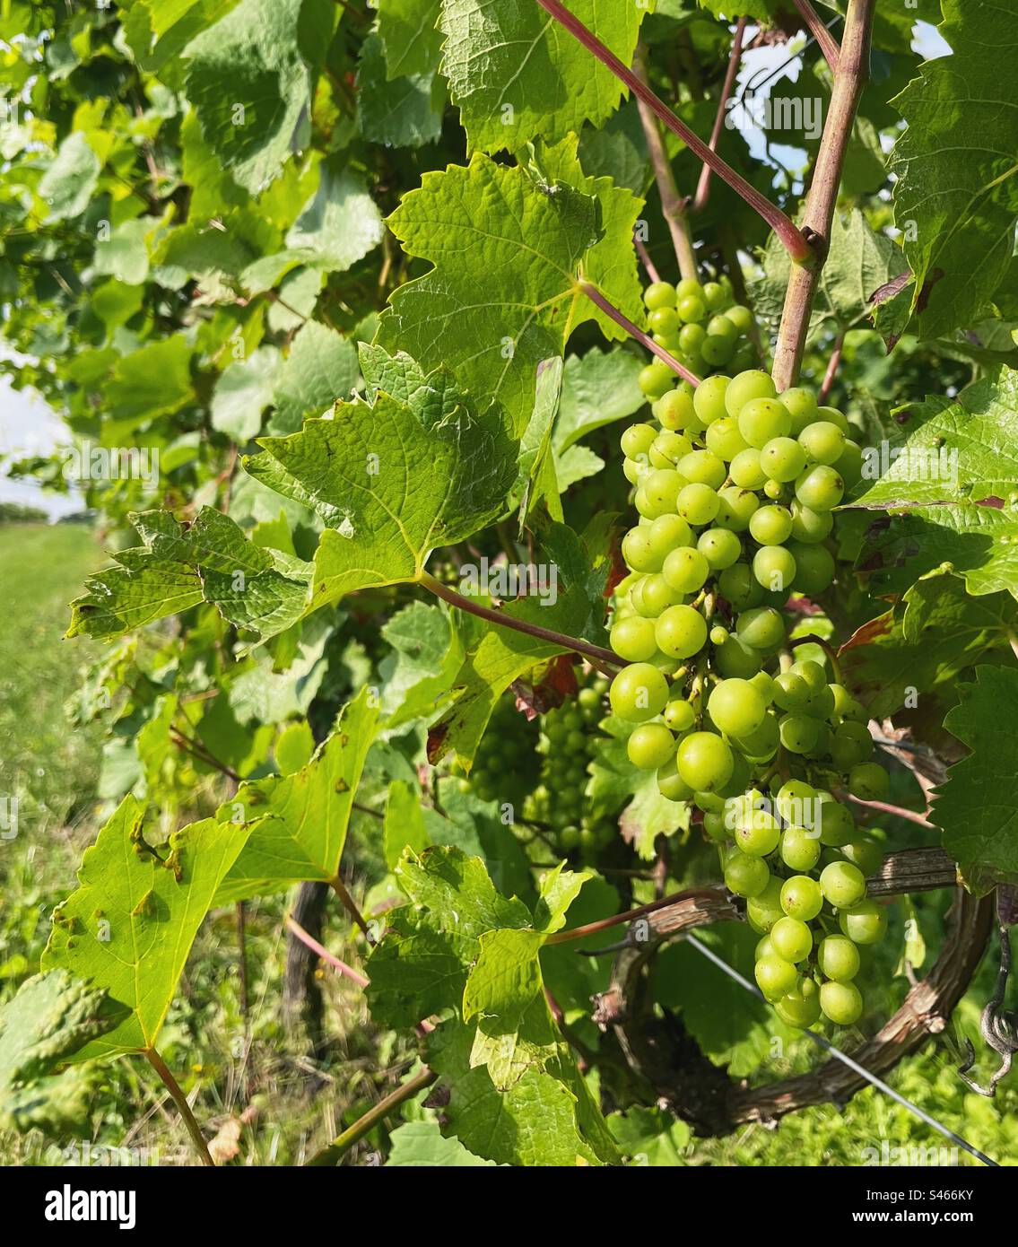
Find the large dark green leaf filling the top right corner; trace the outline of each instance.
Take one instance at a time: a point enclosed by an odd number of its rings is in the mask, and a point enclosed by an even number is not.
[[[943,0],[940,31],[953,55],[926,62],[895,100],[906,121],[890,161],[895,222],[916,277],[912,313],[923,339],[976,319],[1014,249],[1016,15],[1012,2]]]

